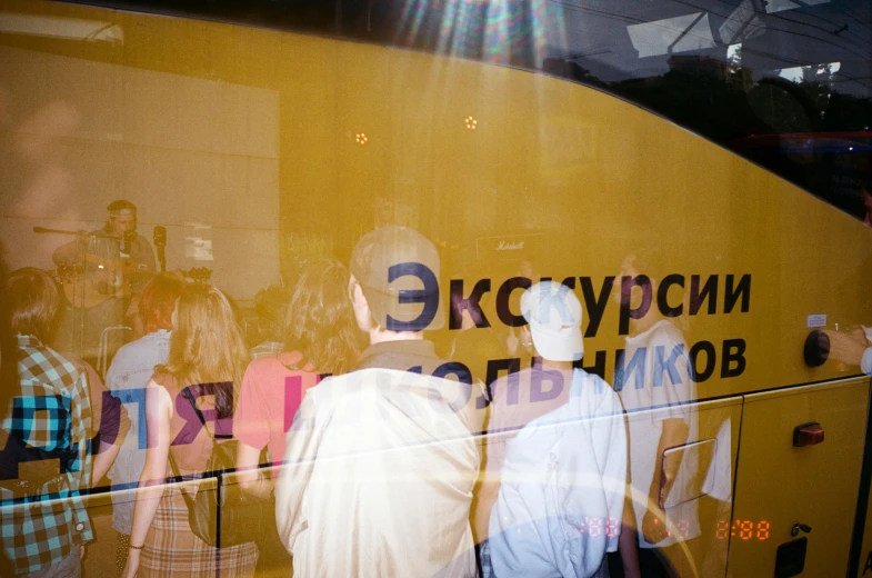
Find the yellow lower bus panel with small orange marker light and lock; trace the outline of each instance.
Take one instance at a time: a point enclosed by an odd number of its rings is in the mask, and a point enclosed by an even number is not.
[[[856,496],[860,480],[868,396],[865,378],[746,396],[731,576],[772,576],[779,547],[802,539],[804,576],[845,572],[855,509],[846,498]],[[823,427],[823,441],[794,447],[794,428],[808,422]],[[796,524],[812,531],[796,528],[793,536]]]

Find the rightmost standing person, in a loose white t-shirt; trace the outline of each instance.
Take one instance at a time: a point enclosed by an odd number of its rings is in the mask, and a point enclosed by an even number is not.
[[[621,270],[621,285],[627,288],[619,288],[617,298],[629,291],[631,302],[625,305],[638,308],[645,295],[656,296],[659,279],[641,273],[656,260],[654,253],[628,256]],[[637,281],[648,285],[650,293],[644,288],[632,290]],[[696,476],[696,459],[664,459],[669,448],[696,439],[696,415],[689,405],[696,399],[696,382],[684,335],[652,303],[640,319],[630,319],[615,368],[614,389],[630,413],[630,497],[639,535],[639,566],[643,577],[671,576],[674,569],[660,548],[700,535],[696,500],[681,500],[683,488]],[[661,409],[651,412],[650,408]],[[632,552],[623,550],[621,555]]]

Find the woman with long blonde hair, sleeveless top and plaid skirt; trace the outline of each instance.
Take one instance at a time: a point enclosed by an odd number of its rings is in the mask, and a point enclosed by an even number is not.
[[[146,385],[148,449],[122,576],[252,576],[258,559],[253,541],[220,550],[209,546],[189,524],[181,491],[191,488],[153,487],[172,476],[170,460],[182,479],[202,477],[213,445],[231,434],[237,388],[249,359],[230,302],[214,287],[188,285],[172,319],[167,363],[154,368]],[[216,419],[186,427],[190,413],[182,415],[183,403]]]

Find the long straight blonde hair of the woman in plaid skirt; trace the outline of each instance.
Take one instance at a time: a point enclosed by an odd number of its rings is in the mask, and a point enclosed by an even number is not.
[[[248,361],[245,341],[224,293],[204,283],[187,286],[176,305],[169,358],[154,370],[171,375],[180,387],[212,383],[216,411],[225,418],[233,413]]]

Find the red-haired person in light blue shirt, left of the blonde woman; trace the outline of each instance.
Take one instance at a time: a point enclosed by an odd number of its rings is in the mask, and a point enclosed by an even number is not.
[[[139,301],[146,335],[118,350],[106,377],[112,395],[128,403],[130,416],[130,434],[108,474],[113,487],[129,489],[112,494],[112,528],[117,532],[116,564],[119,574],[124,569],[130,547],[136,505],[133,489],[146,465],[146,383],[154,373],[154,366],[167,362],[172,311],[183,287],[184,281],[171,273],[158,275],[149,281]]]

